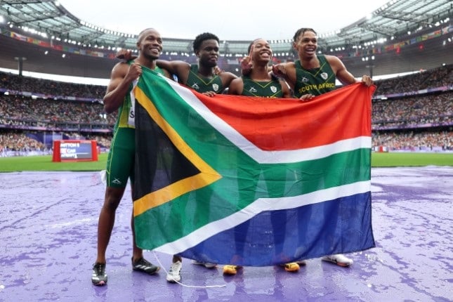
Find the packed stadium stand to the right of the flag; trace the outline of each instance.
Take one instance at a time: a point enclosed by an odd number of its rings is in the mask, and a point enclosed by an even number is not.
[[[453,65],[376,81],[374,150],[453,150]]]

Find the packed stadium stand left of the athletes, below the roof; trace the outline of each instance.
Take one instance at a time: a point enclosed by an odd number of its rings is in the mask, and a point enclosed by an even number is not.
[[[0,156],[48,154],[53,139],[107,150],[116,117],[103,110],[105,89],[0,72]]]

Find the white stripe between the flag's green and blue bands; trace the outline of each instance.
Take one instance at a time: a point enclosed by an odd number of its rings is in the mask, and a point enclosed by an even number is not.
[[[185,251],[186,249],[195,247],[197,244],[204,241],[205,239],[208,239],[211,236],[223,232],[224,230],[233,228],[236,225],[239,225],[244,221],[253,218],[263,211],[293,209],[299,206],[306,206],[307,204],[317,204],[340,197],[363,194],[370,192],[370,190],[371,180],[365,180],[357,183],[351,183],[349,185],[341,185],[325,190],[318,190],[294,197],[256,199],[255,202],[249,204],[249,206],[242,209],[241,211],[238,211],[235,214],[232,214],[221,220],[204,225],[202,228],[191,232],[185,237],[181,237],[174,242],[169,242],[160,247],[157,247],[155,251],[161,251],[162,253],[166,254],[178,254]]]

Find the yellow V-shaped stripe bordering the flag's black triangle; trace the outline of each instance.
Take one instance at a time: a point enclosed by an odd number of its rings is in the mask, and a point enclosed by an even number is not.
[[[150,117],[159,125],[159,127],[166,133],[170,138],[171,142],[178,148],[178,150],[187,157],[194,166],[199,169],[200,173],[195,176],[190,176],[182,180],[172,183],[171,185],[166,186],[155,192],[151,192],[140,199],[134,201],[133,204],[133,215],[138,216],[143,212],[152,209],[156,206],[164,204],[171,201],[172,199],[179,197],[180,195],[190,192],[192,190],[197,190],[203,188],[206,185],[214,183],[214,181],[220,179],[222,176],[217,173],[214,169],[206,164],[204,160],[197,155],[197,153],[192,150],[192,148],[185,143],[183,138],[181,138],[178,133],[168,124],[161,114],[157,111],[155,105],[151,100],[146,96],[146,94],[139,88],[135,88],[136,99],[138,103],[142,105]]]

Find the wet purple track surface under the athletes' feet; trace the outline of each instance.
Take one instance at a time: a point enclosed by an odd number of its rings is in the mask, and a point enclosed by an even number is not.
[[[341,268],[310,259],[298,273],[235,276],[184,259],[183,285],[131,269],[130,190],[107,249],[108,284],[91,284],[104,185],[98,172],[0,173],[0,301],[452,301],[453,167],[372,169],[376,248]]]

